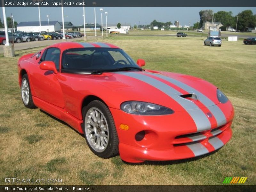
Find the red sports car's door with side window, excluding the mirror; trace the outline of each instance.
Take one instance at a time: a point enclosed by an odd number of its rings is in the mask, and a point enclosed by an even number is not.
[[[59,71],[60,49],[55,47],[46,49],[43,55],[36,60],[38,67],[34,68],[34,71],[31,71],[31,78],[36,96],[39,99],[64,108],[63,93],[58,80],[59,74],[54,74],[53,71],[40,69],[39,65],[43,61],[53,61],[56,69]]]

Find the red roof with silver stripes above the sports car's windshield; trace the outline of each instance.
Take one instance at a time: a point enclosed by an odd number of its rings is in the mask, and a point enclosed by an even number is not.
[[[95,43],[79,43],[79,42],[62,42],[62,43],[57,43],[48,46],[49,47],[58,47],[60,50],[64,51],[66,49],[72,49],[72,48],[117,48],[116,45],[109,44],[109,43],[102,43],[102,42],[95,42]]]

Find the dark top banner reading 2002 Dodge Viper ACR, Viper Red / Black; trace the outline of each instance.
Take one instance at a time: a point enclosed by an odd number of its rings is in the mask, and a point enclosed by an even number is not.
[[[252,0],[0,0],[1,7],[256,7]]]

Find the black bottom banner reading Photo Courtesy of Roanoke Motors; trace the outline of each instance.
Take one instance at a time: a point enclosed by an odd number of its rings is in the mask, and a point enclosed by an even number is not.
[[[256,186],[250,185],[220,185],[220,186],[44,186],[44,185],[8,185],[8,186],[0,186],[1,192],[49,192],[49,191],[56,191],[56,192],[200,192],[200,191],[232,191],[232,192],[242,192],[242,191],[256,191]]]

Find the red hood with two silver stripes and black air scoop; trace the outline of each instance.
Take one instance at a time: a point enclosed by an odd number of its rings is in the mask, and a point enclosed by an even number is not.
[[[120,108],[121,103],[131,100],[155,103],[175,111],[195,110],[219,103],[217,87],[194,76],[150,70],[78,76],[81,78],[78,82],[91,85],[87,89],[112,108]],[[95,84],[97,88],[93,86]],[[77,87],[80,90],[81,86],[84,87],[79,83],[76,86],[80,86]]]

